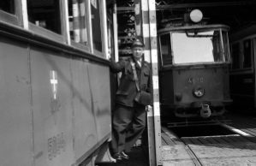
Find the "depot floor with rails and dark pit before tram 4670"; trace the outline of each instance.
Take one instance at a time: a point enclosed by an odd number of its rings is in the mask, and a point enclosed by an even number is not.
[[[226,124],[162,127],[163,165],[256,165],[256,141],[253,138],[253,135]]]

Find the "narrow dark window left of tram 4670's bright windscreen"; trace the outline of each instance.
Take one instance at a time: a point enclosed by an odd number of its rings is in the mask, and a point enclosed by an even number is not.
[[[163,65],[172,64],[170,33],[160,36],[160,49]]]

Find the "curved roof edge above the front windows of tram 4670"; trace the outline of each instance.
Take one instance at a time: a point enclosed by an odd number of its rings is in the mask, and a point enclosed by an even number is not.
[[[158,33],[166,33],[169,31],[182,31],[182,30],[190,30],[190,29],[214,29],[214,28],[222,28],[223,30],[229,31],[229,27],[222,24],[214,24],[214,25],[193,25],[193,26],[179,26],[179,27],[165,27],[163,29],[158,30]]]

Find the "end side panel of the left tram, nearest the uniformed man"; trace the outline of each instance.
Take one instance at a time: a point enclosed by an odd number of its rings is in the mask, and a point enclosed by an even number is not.
[[[110,136],[110,73],[99,63],[73,60],[71,64],[75,160],[82,161],[91,154],[86,151],[95,151]]]

